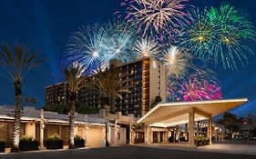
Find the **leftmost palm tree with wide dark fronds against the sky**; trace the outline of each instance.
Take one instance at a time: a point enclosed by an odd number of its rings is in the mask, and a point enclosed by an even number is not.
[[[19,150],[23,77],[43,61],[42,58],[37,57],[37,52],[32,52],[32,54],[30,52],[30,49],[23,48],[20,45],[15,45],[14,50],[11,50],[5,44],[3,44],[3,52],[0,51],[1,64],[11,76],[15,87],[15,121],[12,152]]]

